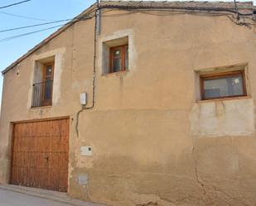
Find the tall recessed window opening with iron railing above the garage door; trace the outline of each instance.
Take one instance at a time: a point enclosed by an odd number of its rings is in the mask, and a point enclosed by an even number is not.
[[[33,84],[33,108],[49,106],[52,99],[54,62],[37,65],[36,82]]]

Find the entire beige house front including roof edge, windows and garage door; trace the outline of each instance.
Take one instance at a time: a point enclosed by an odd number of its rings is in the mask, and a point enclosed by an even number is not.
[[[0,183],[255,205],[254,7],[236,6],[101,2],[4,69]]]

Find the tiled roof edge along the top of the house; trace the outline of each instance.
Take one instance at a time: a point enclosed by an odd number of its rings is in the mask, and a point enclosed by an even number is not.
[[[77,22],[77,19],[80,17],[85,17],[90,13],[94,12],[97,7],[97,3],[94,3],[92,6],[87,8],[84,12],[80,13],[77,17],[73,20],[62,26],[59,30],[48,36],[45,40],[41,41],[38,45],[33,47],[31,50],[28,50],[25,55],[22,55],[19,59],[9,65],[6,69],[2,70],[2,74],[6,74],[7,71],[12,69],[13,67],[17,66],[22,60],[26,59],[29,55],[34,53],[36,50],[40,49],[42,46],[45,46],[49,41],[54,39],[56,36],[59,36],[60,33],[67,30],[70,26]],[[154,8],[173,8],[173,9],[209,9],[215,10],[219,12],[234,12],[234,2],[170,2],[170,1],[116,1],[116,0],[102,0],[100,2],[100,6],[102,8],[139,8],[139,9],[154,9]],[[246,10],[252,12],[256,7],[254,7],[253,2],[237,2],[237,7],[239,11]]]

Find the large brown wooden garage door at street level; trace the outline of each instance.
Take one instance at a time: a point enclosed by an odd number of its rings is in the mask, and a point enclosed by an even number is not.
[[[14,124],[12,184],[65,192],[68,160],[69,119]]]

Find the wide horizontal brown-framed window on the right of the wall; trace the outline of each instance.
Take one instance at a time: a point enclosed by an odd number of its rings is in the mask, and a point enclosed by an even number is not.
[[[244,70],[200,75],[202,99],[239,97],[246,95]]]

